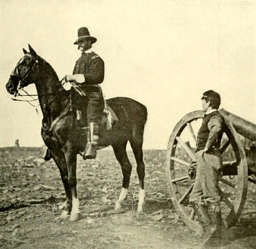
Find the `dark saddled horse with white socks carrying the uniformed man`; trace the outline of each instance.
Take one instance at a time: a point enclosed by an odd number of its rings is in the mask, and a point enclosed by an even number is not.
[[[17,94],[20,89],[34,83],[38,100],[43,113],[41,135],[44,143],[52,152],[52,158],[60,170],[60,175],[66,192],[66,202],[60,217],[70,215],[75,221],[80,217],[79,200],[76,191],[76,156],[86,146],[86,136],[82,135],[80,126],[70,111],[70,93],[63,89],[54,69],[32,49],[25,49],[24,56],[18,61],[6,84],[8,93]],[[143,133],[147,120],[147,109],[133,99],[115,97],[107,100],[114,110],[118,121],[112,128],[100,128],[99,146],[111,145],[123,173],[122,190],[115,209],[120,210],[127,197],[132,165],[126,154],[126,144],[132,147],[140,182],[138,213],[143,209],[145,190],[143,162]]]

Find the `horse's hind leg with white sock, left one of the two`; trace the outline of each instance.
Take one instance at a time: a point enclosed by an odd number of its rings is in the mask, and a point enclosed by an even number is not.
[[[122,173],[123,173],[122,190],[116,202],[116,206],[115,206],[116,211],[120,211],[120,209],[122,208],[122,204],[127,198],[128,188],[130,183],[130,176],[132,172],[132,164],[130,163],[126,153],[126,144],[127,144],[127,141],[112,145],[116,159],[120,163],[120,166],[122,168]]]

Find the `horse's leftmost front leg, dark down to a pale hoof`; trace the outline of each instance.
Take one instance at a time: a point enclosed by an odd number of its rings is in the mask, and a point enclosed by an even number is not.
[[[63,204],[63,210],[62,210],[62,213],[60,214],[60,218],[66,218],[68,217],[68,215],[70,215],[70,211],[72,208],[72,193],[68,184],[68,168],[66,165],[66,159],[65,159],[64,153],[61,150],[52,151],[52,158],[56,163],[56,165],[58,166],[62,183],[64,185],[64,189],[66,193],[66,201]]]

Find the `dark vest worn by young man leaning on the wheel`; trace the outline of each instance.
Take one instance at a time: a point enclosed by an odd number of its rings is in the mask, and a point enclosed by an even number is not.
[[[224,118],[222,117],[222,115],[218,111],[214,111],[212,113],[209,113],[209,114],[205,115],[204,119],[203,119],[203,122],[202,122],[202,126],[198,130],[195,152],[197,152],[199,150],[203,150],[205,145],[206,145],[206,142],[208,140],[208,136],[209,136],[209,133],[210,133],[210,130],[208,129],[208,122],[210,121],[210,119],[212,117],[219,117],[222,120],[222,124],[224,124]],[[216,148],[220,147],[222,134],[223,134],[223,129],[218,134],[218,137],[217,137],[216,141],[214,141],[214,144],[213,144],[214,147],[216,147]]]

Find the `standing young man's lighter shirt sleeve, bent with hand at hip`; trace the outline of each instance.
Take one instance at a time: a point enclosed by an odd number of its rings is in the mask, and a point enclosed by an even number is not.
[[[222,131],[222,120],[219,117],[212,117],[207,126],[210,132],[205,148],[211,149],[213,144],[218,139],[218,135]]]

